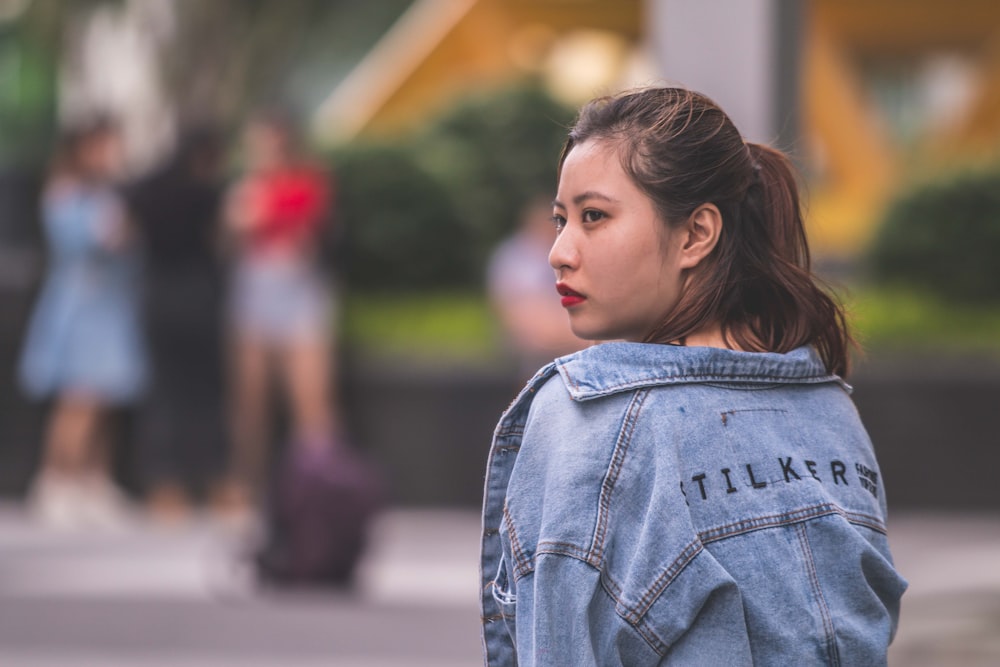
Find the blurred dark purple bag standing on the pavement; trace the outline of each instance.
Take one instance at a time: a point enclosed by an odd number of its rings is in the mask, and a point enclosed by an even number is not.
[[[385,485],[352,447],[293,444],[268,499],[260,577],[275,584],[347,585]]]

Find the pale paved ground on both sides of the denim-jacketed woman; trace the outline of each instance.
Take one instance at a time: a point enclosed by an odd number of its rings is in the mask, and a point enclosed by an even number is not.
[[[397,510],[354,594],[256,590],[243,541],[208,521],[104,534],[0,506],[4,667],[480,664],[474,512]],[[890,664],[1000,665],[1000,517],[899,515],[911,582]]]

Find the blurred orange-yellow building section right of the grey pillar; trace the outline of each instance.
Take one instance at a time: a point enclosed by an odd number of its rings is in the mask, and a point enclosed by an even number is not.
[[[1000,158],[1000,3],[811,0],[803,31],[821,250],[862,248],[908,183]]]

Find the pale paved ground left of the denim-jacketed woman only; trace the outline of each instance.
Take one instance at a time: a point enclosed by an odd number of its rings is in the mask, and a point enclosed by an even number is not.
[[[0,508],[0,665],[475,665],[478,530],[471,512],[390,512],[353,594],[278,594],[208,521],[79,534]]]

